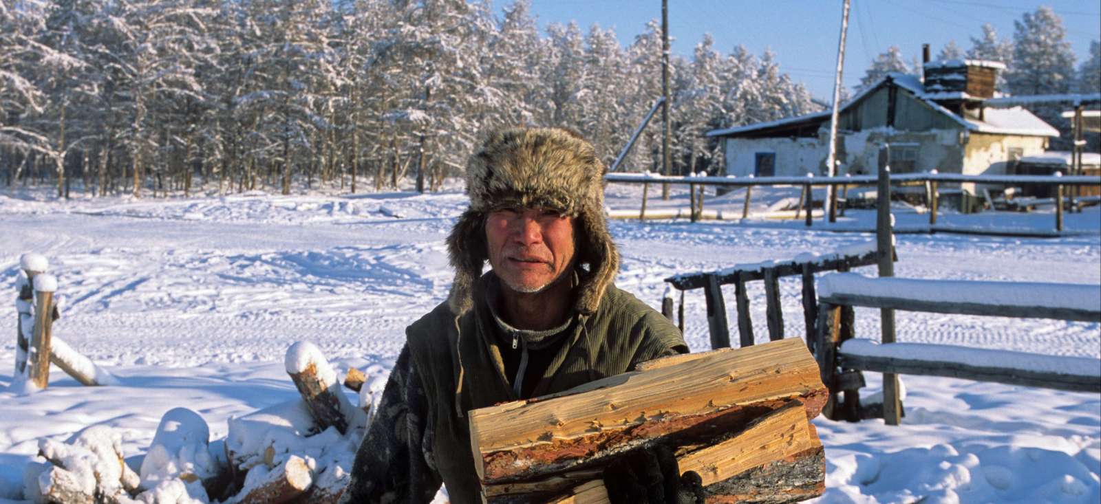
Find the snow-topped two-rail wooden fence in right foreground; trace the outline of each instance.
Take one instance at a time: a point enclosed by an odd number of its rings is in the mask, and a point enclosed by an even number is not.
[[[1101,361],[1065,357],[1032,357],[953,346],[883,343],[853,340],[853,306],[953,315],[1048,318],[1101,322],[1101,286],[1014,282],[961,282],[913,278],[869,278],[852,273],[819,281],[820,296],[814,351],[830,388],[825,414],[857,421],[880,412],[862,408],[862,371],[949,376],[1066,391],[1101,392]],[[1018,361],[1005,362],[1005,361]],[[1023,362],[1021,362],[1023,361]],[[1086,362],[1083,362],[1086,361]],[[901,421],[902,404],[894,394],[882,415]],[[843,394],[838,403],[837,395]]]

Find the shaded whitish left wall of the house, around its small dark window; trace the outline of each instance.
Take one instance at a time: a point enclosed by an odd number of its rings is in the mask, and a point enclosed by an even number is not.
[[[753,175],[756,153],[776,153],[776,176],[818,174],[826,146],[817,139],[727,139],[727,175]]]

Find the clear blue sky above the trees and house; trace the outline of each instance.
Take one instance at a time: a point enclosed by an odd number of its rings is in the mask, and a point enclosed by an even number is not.
[[[729,53],[744,45],[760,55],[776,53],[784,72],[804,83],[816,98],[832,92],[841,0],[668,0],[673,53],[691,56],[704,33],[716,47]],[[509,2],[498,0],[499,6]],[[875,55],[897,45],[906,61],[920,58],[922,44],[931,45],[933,57],[949,40],[963,51],[982,23],[991,23],[1000,37],[1013,35],[1021,14],[1046,4],[1062,18],[1067,39],[1078,62],[1089,54],[1091,40],[1101,39],[1101,1],[1051,0],[852,0],[849,12],[844,84],[851,90]],[[651,19],[661,20],[661,0],[532,0],[541,28],[552,22],[577,21],[582,32],[596,23],[614,28],[623,45],[642,33]]]

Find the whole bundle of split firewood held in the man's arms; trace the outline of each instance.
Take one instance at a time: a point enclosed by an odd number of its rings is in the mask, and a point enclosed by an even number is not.
[[[715,502],[797,502],[825,490],[809,420],[826,399],[798,339],[677,355],[471,412],[475,467],[490,501],[607,502],[601,469],[662,443],[682,471],[700,474]]]

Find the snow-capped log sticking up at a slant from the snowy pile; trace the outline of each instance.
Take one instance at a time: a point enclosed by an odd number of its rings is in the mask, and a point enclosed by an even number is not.
[[[351,425],[366,425],[367,414],[352,407],[340,390],[336,371],[317,347],[298,341],[287,349],[283,362],[321,429],[336,427],[346,434]]]

